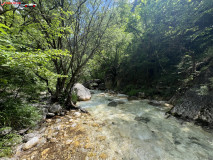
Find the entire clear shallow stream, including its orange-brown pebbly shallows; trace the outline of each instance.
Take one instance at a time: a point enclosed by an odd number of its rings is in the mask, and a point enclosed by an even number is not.
[[[125,104],[107,106],[112,99]],[[50,119],[42,143],[19,151],[23,160],[213,160],[213,134],[192,123],[165,118],[168,108],[96,92],[79,102],[91,115],[69,112]],[[17,158],[18,159],[18,158]]]

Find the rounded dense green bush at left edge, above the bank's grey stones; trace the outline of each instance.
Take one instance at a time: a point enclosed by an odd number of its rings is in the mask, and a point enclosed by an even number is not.
[[[14,129],[33,127],[41,119],[39,110],[18,99],[6,99],[0,102],[0,127],[10,126]]]

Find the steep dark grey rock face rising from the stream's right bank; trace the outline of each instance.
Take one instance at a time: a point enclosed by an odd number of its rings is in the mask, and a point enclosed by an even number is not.
[[[192,85],[179,93],[170,113],[213,128],[213,60],[200,69]]]

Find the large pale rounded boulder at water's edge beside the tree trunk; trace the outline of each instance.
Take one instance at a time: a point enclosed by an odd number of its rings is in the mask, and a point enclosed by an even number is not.
[[[76,83],[72,91],[77,94],[78,100],[87,101],[91,99],[91,93],[89,89],[85,88],[82,84]]]

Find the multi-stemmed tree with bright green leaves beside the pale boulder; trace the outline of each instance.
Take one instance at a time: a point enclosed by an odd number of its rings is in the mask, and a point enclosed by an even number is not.
[[[58,101],[66,97],[66,105],[69,105],[71,88],[83,67],[102,50],[104,34],[113,19],[113,2],[112,0],[35,2],[38,4],[37,7],[20,9],[16,13],[21,15],[22,21],[22,24],[16,26],[16,30],[21,34],[18,39],[34,53],[35,57],[32,59],[26,58],[28,62],[38,58],[37,55],[39,57],[43,55],[47,61],[45,64],[48,65],[45,66],[46,71],[57,75],[55,90],[48,87],[52,100]],[[4,23],[7,23],[7,26],[13,24],[6,20]],[[26,56],[24,52],[28,49],[19,48],[20,57]],[[51,56],[48,57],[48,54]],[[43,66],[41,61],[34,64],[37,67]],[[34,72],[47,85],[51,81],[48,77],[50,74],[45,74],[44,70]]]

